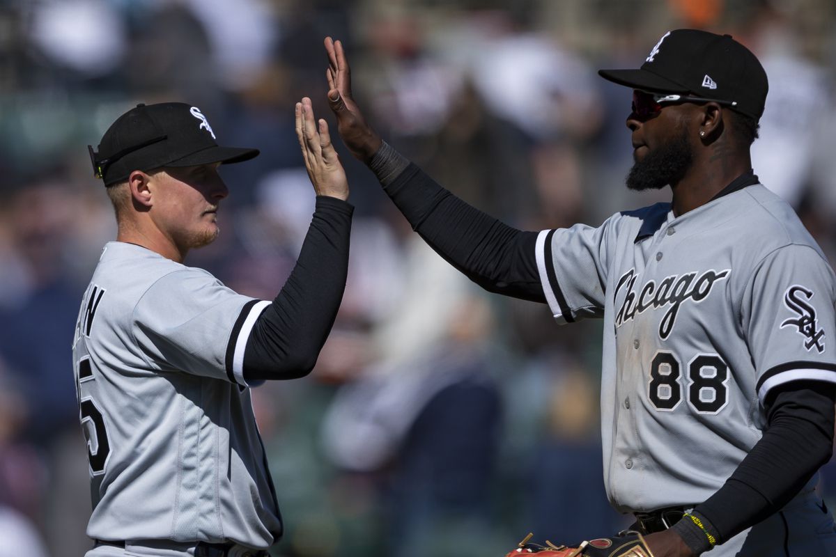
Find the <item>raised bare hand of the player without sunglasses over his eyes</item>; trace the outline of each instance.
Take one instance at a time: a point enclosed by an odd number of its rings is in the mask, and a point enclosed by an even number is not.
[[[349,180],[345,177],[343,165],[331,143],[328,123],[319,119],[319,129],[317,124],[311,99],[304,97],[302,102],[296,104],[296,137],[302,147],[308,178],[317,195],[347,200]]]

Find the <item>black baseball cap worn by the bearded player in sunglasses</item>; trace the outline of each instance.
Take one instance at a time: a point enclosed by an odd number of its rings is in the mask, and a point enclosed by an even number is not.
[[[755,55],[732,38],[699,29],[668,31],[639,69],[602,69],[619,85],[650,93],[690,94],[732,104],[760,119],[767,101],[767,73]]]

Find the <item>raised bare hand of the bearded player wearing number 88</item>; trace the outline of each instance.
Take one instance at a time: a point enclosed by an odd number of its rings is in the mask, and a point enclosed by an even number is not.
[[[368,163],[382,140],[369,124],[366,124],[359,107],[351,96],[351,69],[345,58],[343,43],[325,38],[325,51],[328,53],[329,68],[326,70],[328,78],[328,102],[337,117],[337,131],[351,154],[359,160]]]

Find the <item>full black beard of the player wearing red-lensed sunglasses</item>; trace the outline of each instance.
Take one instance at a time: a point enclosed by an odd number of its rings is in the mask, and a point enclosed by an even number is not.
[[[683,128],[682,133],[670,143],[648,152],[644,160],[635,162],[627,175],[627,187],[635,191],[661,190],[665,185],[682,180],[693,162],[687,130]]]

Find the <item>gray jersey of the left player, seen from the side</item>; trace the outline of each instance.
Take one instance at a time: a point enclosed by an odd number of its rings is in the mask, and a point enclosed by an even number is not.
[[[273,544],[282,521],[242,375],[269,303],[143,247],[104,247],[73,346],[89,537]]]

